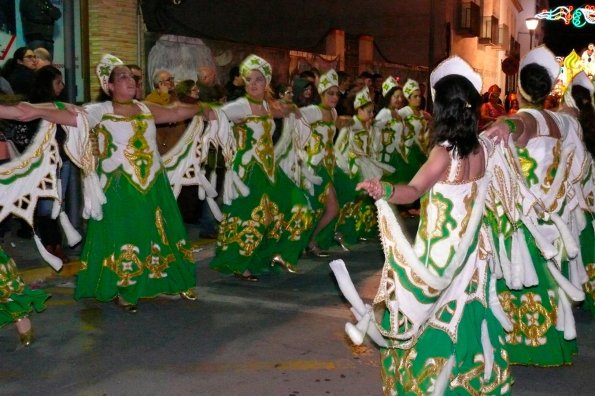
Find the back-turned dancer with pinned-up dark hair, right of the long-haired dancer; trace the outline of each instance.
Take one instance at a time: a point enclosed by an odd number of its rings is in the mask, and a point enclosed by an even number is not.
[[[555,56],[546,47],[527,53],[519,74],[521,109],[487,131],[492,135],[504,130],[506,136],[511,132],[517,157],[512,167],[521,170],[525,184],[548,214],[538,224],[539,233],[556,247],[553,255],[544,255],[526,225],[492,219],[507,240],[500,242],[499,250],[506,261],[502,268],[508,267],[509,274],[503,274],[497,289],[514,324],[506,335],[513,364],[570,364],[577,353],[571,301],[584,299],[581,289],[586,273],[577,260],[575,211],[581,209],[573,180],[585,153],[578,138],[578,121],[568,114],[543,109],[559,72]],[[522,233],[520,239],[513,237],[517,229]],[[533,265],[526,266],[527,261]],[[526,271],[529,267],[533,268],[531,273]]]

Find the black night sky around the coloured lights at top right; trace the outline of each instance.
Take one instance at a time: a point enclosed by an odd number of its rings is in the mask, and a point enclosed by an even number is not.
[[[575,8],[590,4],[595,6],[595,1],[555,1],[550,0],[550,10],[564,5],[572,5]],[[587,48],[587,44],[595,43],[595,25],[586,24],[582,28],[576,28],[572,23],[565,25],[564,21],[545,21],[540,22],[543,26],[544,43],[556,55],[566,56],[572,49],[580,54]]]

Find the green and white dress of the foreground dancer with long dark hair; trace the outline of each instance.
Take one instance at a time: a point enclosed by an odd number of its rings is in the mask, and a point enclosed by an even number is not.
[[[385,263],[373,308],[388,343],[380,350],[385,395],[510,393],[510,322],[496,296],[483,214],[501,199],[514,207],[516,197],[502,157],[489,141],[482,147],[498,176],[458,181],[451,157],[447,178],[422,197],[413,246],[390,205],[376,202]]]

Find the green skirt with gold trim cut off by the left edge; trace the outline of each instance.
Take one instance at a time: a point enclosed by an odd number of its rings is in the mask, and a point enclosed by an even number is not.
[[[25,286],[14,260],[0,248],[0,327],[43,311],[49,294]]]

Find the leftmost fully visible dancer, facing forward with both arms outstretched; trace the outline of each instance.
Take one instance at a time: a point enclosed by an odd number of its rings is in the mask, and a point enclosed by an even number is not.
[[[157,151],[155,123],[182,121],[202,109],[134,100],[130,70],[112,55],[102,58],[97,76],[111,101],[87,105],[84,113],[21,106],[25,118],[67,126],[65,150],[85,174],[83,214],[91,219],[74,297],[115,300],[128,312],[136,312],[140,298],[159,294],[195,300],[195,264]],[[90,134],[97,135],[97,167]]]

